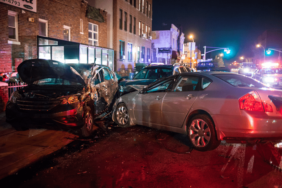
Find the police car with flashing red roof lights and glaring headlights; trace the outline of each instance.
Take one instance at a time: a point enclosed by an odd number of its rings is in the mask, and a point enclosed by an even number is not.
[[[253,72],[252,78],[269,87],[282,88],[282,67],[278,63],[264,63]]]

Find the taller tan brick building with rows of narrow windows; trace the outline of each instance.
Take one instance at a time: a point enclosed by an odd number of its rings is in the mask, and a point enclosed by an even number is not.
[[[152,0],[89,0],[89,4],[111,14],[108,46],[114,49],[118,74],[127,76],[138,64],[151,63]]]

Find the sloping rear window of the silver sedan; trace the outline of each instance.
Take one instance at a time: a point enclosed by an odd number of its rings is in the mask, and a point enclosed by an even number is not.
[[[255,81],[252,78],[249,78],[247,76],[243,75],[237,75],[237,74],[213,74],[213,76],[216,76],[223,81],[226,81],[227,83],[231,84],[232,86],[237,87],[267,87],[264,84]]]

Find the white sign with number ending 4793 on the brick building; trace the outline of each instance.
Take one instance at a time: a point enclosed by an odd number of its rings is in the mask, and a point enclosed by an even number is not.
[[[37,0],[0,0],[0,2],[13,5],[18,8],[23,8],[36,13]]]

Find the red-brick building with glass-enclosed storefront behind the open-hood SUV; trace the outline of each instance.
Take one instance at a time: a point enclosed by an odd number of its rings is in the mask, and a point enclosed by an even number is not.
[[[0,1],[0,28],[0,72],[17,72],[22,61],[33,58],[64,63],[92,63],[96,58],[97,64],[113,68],[107,12],[86,1]],[[7,102],[2,97],[6,87],[1,85],[1,109]]]

